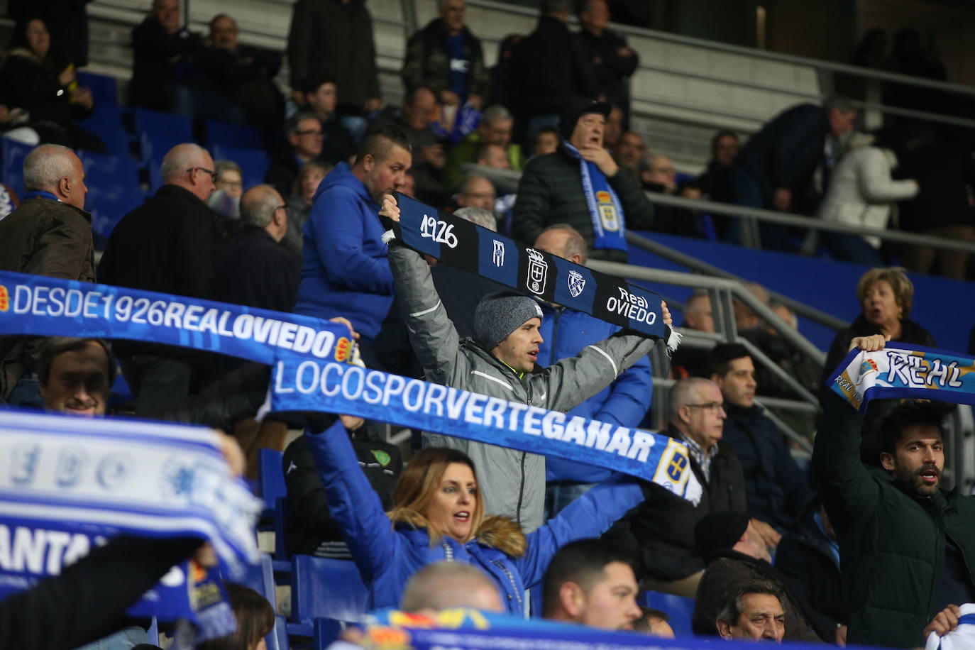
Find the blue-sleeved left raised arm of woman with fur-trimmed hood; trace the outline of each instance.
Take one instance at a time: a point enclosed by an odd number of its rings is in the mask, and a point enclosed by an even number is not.
[[[338,524],[363,581],[370,585],[400,551],[399,536],[363,474],[340,420],[319,434],[306,434],[331,518]]]

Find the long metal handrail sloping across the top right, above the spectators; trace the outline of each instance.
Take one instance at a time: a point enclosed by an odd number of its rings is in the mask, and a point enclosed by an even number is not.
[[[497,2],[496,0],[467,0],[468,7],[480,7],[482,9],[491,9],[495,11],[507,12],[509,14],[519,14],[522,16],[537,17],[538,11],[533,9],[528,9],[527,7],[519,7],[516,5],[509,5],[504,2]],[[907,86],[917,86],[919,88],[926,88],[936,91],[944,91],[948,93],[956,93],[958,95],[971,95],[975,96],[975,88],[969,86],[962,86],[960,84],[951,84],[946,81],[936,81],[934,79],[925,79],[923,77],[911,77],[908,75],[897,74],[896,72],[887,72],[885,70],[875,70],[874,68],[861,67],[858,65],[849,65],[847,63],[836,63],[833,61],[820,60],[817,58],[809,57],[799,57],[797,55],[785,55],[778,52],[769,52],[767,50],[759,50],[757,48],[749,48],[743,45],[731,45],[729,43],[721,43],[718,41],[709,41],[703,38],[695,38],[693,36],[682,36],[681,34],[673,34],[671,32],[660,31],[657,29],[647,29],[645,27],[635,27],[633,25],[620,24],[618,22],[610,23],[609,25],[613,31],[616,31],[627,36],[643,36],[645,38],[653,38],[661,41],[668,41],[671,43],[677,43],[679,45],[689,45],[693,47],[704,48],[706,50],[714,50],[716,52],[725,52],[728,54],[744,55],[747,57],[757,57],[764,58],[767,60],[777,61],[780,63],[791,63],[794,65],[804,65],[807,67],[812,67],[817,70],[830,70],[832,72],[839,72],[842,74],[848,74],[855,77],[863,77],[865,79],[876,79],[878,81],[893,82],[897,84],[904,84]]]

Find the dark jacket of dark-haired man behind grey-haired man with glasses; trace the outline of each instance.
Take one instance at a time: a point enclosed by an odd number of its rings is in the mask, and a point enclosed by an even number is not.
[[[748,514],[776,528],[791,528],[812,499],[809,481],[789,453],[789,444],[761,406],[725,403],[724,435],[741,461]]]

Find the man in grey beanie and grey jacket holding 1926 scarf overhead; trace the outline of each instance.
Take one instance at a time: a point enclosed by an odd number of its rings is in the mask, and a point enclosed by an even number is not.
[[[380,214],[399,220],[387,196]],[[542,310],[534,298],[513,291],[488,293],[474,313],[473,338],[461,339],[440,301],[430,268],[420,253],[389,242],[389,265],[409,340],[427,381],[452,388],[567,411],[602,391],[646,355],[653,339],[621,329],[578,355],[546,368],[536,365],[542,343]],[[663,322],[670,312],[661,301]],[[527,533],[542,524],[545,457],[493,444],[424,435],[427,445],[459,449],[478,468],[478,492],[485,514],[507,516]]]

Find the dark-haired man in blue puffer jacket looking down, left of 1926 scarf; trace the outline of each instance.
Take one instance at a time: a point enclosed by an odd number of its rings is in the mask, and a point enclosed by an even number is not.
[[[304,227],[304,257],[295,314],[344,316],[359,332],[370,366],[372,339],[393,301],[393,275],[375,217],[384,194],[406,178],[411,155],[406,134],[383,127],[359,148],[356,163],[339,163],[315,192]]]

